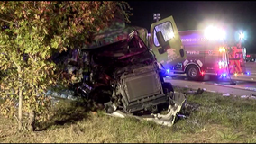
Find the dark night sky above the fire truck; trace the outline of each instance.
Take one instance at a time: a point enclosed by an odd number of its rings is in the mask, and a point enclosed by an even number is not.
[[[236,31],[244,31],[243,46],[247,53],[256,53],[256,1],[127,2],[133,8],[130,25],[150,31],[151,23],[155,22],[154,13],[160,13],[161,19],[172,15],[178,31],[202,30],[209,24],[222,25],[233,37]]]

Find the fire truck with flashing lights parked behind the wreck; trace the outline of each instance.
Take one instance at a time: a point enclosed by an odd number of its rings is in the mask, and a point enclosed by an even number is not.
[[[205,31],[178,31],[187,55],[183,62],[167,65],[169,74],[186,74],[188,80],[201,80],[205,75],[227,76],[228,53],[224,40],[207,37]],[[171,51],[168,51],[171,55]],[[160,61],[163,63],[163,61]]]

